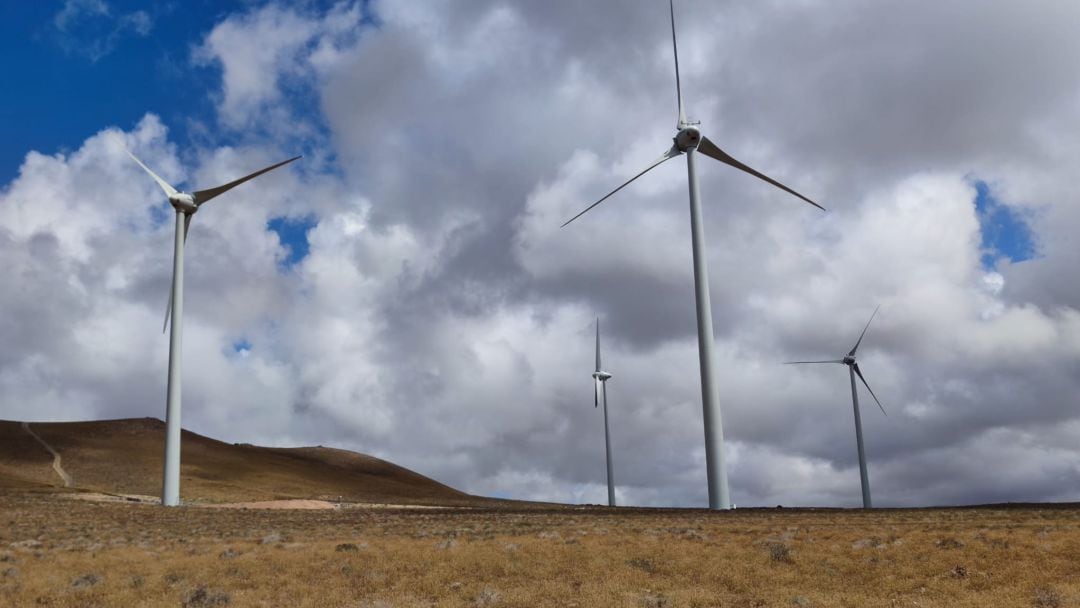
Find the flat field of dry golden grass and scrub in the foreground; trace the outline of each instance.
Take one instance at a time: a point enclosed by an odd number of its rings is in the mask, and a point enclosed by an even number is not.
[[[1080,606],[1080,506],[95,503],[0,488],[4,606]]]

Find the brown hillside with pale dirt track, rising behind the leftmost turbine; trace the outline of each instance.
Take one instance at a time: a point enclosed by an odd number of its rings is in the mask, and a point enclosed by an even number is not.
[[[158,496],[165,424],[154,418],[33,422],[59,452],[79,489]],[[52,456],[19,422],[0,421],[0,486],[62,486]],[[480,505],[473,497],[396,464],[325,447],[228,444],[184,431],[180,496],[185,502],[322,499],[393,504]]]

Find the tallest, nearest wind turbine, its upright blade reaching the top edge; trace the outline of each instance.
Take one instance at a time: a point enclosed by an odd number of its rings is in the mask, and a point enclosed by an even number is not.
[[[724,459],[724,427],[720,422],[720,408],[717,404],[718,396],[714,376],[716,363],[713,355],[713,312],[708,299],[705,229],[701,218],[698,175],[694,171],[694,152],[701,152],[739,171],[748,173],[758,179],[802,199],[822,211],[824,211],[824,207],[775,179],[739,162],[731,154],[717,147],[716,144],[713,144],[708,137],[702,135],[701,130],[698,129],[699,122],[687,120],[686,112],[683,109],[683,89],[678,73],[678,44],[675,41],[674,0],[669,0],[669,8],[671,9],[672,21],[672,48],[675,51],[675,94],[678,99],[678,123],[675,127],[677,131],[674,137],[675,143],[663,156],[645,167],[644,171],[627,179],[622,186],[605,194],[603,199],[585,207],[584,211],[571,217],[563,226],[581,217],[619,190],[625,188],[631,181],[652,171],[661,163],[686,154],[686,166],[690,185],[690,233],[693,247],[693,286],[698,306],[698,359],[701,365],[701,401],[705,421],[705,469],[708,476],[708,506],[710,509],[730,509],[731,499],[728,492],[728,472]]]

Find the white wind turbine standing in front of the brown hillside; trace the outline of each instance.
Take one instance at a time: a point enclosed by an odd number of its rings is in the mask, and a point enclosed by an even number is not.
[[[161,503],[165,506],[177,506],[180,503],[180,342],[184,326],[184,244],[188,239],[188,227],[191,225],[191,216],[211,199],[232,190],[244,181],[291,163],[300,157],[293,157],[287,161],[260,168],[251,175],[241,177],[224,186],[218,186],[217,188],[181,192],[170,186],[158,174],[150,171],[150,167],[135,158],[135,154],[129,151],[127,156],[149,173],[150,177],[153,177],[153,180],[158,183],[158,186],[168,197],[168,203],[176,210],[176,231],[173,248],[173,288],[168,297],[168,305],[165,307],[165,324],[161,329],[164,334],[165,327],[168,327],[168,322],[172,320],[173,329],[168,335],[168,389],[165,397],[165,470],[161,489]]]

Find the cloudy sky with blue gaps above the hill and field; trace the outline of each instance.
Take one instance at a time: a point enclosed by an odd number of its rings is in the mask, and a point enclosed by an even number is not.
[[[676,3],[738,505],[1080,500],[1080,4]],[[662,1],[0,8],[0,418],[164,418],[462,490],[707,504]],[[181,488],[183,494],[183,488]]]

